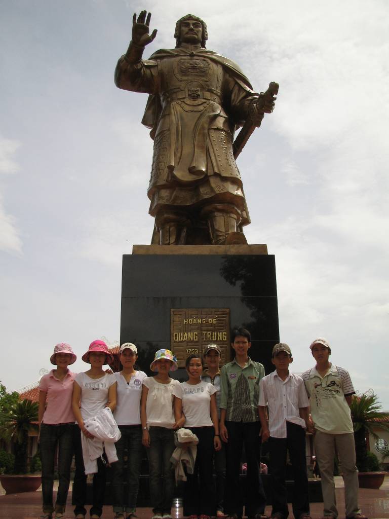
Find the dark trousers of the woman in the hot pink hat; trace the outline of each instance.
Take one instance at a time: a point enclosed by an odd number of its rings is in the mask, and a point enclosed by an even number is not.
[[[76,461],[76,473],[73,482],[73,502],[75,503],[74,514],[87,514],[85,501],[87,495],[87,476],[85,474],[84,459],[82,458],[81,431],[77,426],[73,436],[74,456]],[[98,458],[98,471],[93,474],[93,498],[90,515],[98,515],[103,513],[105,480],[106,480],[106,464],[101,458]]]

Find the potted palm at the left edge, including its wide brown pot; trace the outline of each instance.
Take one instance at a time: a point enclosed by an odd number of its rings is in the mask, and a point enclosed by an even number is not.
[[[12,442],[15,454],[4,463],[0,482],[6,494],[35,491],[40,486],[40,474],[27,474],[29,431],[37,428],[38,404],[31,400],[13,402],[0,412],[0,434]]]

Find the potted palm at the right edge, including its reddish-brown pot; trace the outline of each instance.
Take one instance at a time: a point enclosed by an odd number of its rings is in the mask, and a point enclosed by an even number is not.
[[[362,395],[354,395],[351,402],[351,417],[354,427],[356,466],[358,468],[359,487],[380,488],[386,472],[380,472],[379,461],[376,455],[367,450],[366,437],[371,434],[378,439],[374,428],[389,431],[387,424],[374,421],[382,418],[381,404],[372,389]]]

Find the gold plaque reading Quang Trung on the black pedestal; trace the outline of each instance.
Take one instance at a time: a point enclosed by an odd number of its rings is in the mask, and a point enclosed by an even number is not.
[[[202,353],[210,343],[220,346],[220,365],[230,362],[229,308],[172,308],[170,335],[179,367],[185,367],[189,355]]]

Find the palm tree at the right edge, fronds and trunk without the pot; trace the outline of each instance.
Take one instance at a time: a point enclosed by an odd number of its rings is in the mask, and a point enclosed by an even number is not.
[[[389,426],[376,418],[382,418],[381,403],[372,389],[369,389],[362,395],[354,395],[351,402],[351,417],[354,427],[356,466],[360,472],[367,472],[368,455],[366,436],[371,434],[374,439],[378,439],[374,429],[382,429],[389,431]]]

